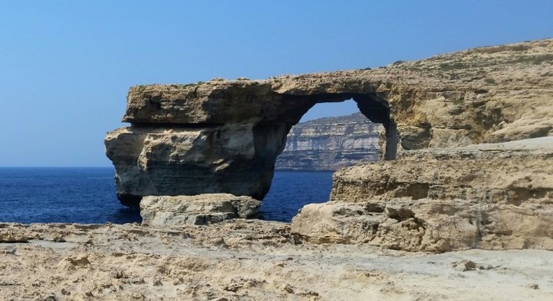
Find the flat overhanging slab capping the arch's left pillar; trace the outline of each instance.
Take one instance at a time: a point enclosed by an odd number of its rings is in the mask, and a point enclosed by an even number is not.
[[[267,80],[211,80],[188,85],[138,85],[123,121],[138,124],[297,123],[315,102],[290,102]]]

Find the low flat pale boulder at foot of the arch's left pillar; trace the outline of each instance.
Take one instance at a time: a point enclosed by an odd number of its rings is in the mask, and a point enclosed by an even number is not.
[[[231,218],[253,218],[260,201],[225,193],[147,196],[140,202],[143,225],[207,225]]]

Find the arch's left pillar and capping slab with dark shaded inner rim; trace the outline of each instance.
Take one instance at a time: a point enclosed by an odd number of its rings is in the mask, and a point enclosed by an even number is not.
[[[138,207],[144,195],[230,193],[262,200],[290,128],[322,102],[353,99],[363,115],[384,125],[384,158],[393,160],[399,140],[390,106],[372,85],[361,87],[288,84],[283,91],[276,78],[131,87],[123,118],[131,125],[105,140],[118,198],[129,207]]]

